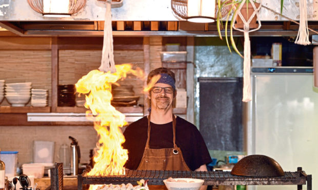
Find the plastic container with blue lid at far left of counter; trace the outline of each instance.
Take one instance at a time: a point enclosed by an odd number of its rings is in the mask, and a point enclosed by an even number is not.
[[[6,164],[6,176],[16,176],[16,165],[17,165],[17,153],[18,151],[1,151],[1,160]]]

